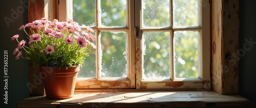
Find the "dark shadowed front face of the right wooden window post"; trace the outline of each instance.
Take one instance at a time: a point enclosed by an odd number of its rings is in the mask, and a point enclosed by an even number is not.
[[[239,0],[223,1],[223,93],[239,94]],[[232,81],[231,81],[232,80]]]

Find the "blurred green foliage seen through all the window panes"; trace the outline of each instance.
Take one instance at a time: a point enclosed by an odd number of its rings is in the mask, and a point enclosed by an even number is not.
[[[142,0],[143,27],[198,26],[198,0],[174,0],[173,15],[170,15],[169,0]],[[126,26],[126,1],[101,0],[101,26]],[[174,22],[170,22],[173,16]],[[95,1],[73,0],[73,20],[80,25],[95,26]],[[143,78],[159,79],[170,77],[170,61],[174,59],[175,77],[198,77],[199,42],[198,31],[175,31],[172,33],[143,33]],[[102,50],[101,77],[126,77],[126,40],[125,32],[101,32]],[[174,53],[170,47],[174,46]],[[174,57],[170,57],[173,53]],[[96,77],[95,50],[92,50],[79,72],[78,77]]]

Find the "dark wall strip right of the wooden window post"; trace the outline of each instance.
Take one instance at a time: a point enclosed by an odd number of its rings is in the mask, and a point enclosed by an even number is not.
[[[245,49],[245,41],[252,39],[256,42],[256,1],[240,0],[240,49]],[[246,48],[248,45],[246,46]],[[242,52],[241,52],[242,54]],[[256,44],[250,50],[245,51],[245,56],[241,55],[239,63],[239,90],[240,95],[249,99],[251,105],[256,106]]]

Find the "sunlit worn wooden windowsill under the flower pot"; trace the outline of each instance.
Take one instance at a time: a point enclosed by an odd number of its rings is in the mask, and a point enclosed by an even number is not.
[[[246,106],[240,95],[221,95],[214,91],[97,91],[75,92],[69,99],[29,96],[17,107],[205,107]]]

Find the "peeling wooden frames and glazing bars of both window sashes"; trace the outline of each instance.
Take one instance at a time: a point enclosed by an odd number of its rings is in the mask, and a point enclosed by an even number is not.
[[[99,74],[100,70],[98,67],[100,67],[100,64],[98,62],[96,63],[96,78],[77,78],[76,82],[76,89],[110,89],[110,88],[122,88],[122,89],[127,89],[127,88],[135,88],[135,83],[130,83],[131,81],[136,80],[136,89],[210,89],[210,6],[209,3],[207,3],[207,0],[200,0],[199,1],[199,26],[195,27],[189,27],[189,28],[142,28],[141,24],[141,14],[140,14],[140,6],[141,6],[142,1],[130,1],[127,0],[127,26],[123,28],[111,28],[111,27],[105,27],[105,26],[100,26],[100,14],[97,12],[99,7],[97,7],[100,2],[96,0],[96,7],[95,7],[95,15],[96,15],[96,27],[93,27],[94,31],[96,31],[96,36],[99,35],[100,31],[109,31],[109,30],[114,30],[114,31],[126,31],[129,35],[127,38],[127,46],[128,46],[128,53],[127,57],[129,58],[127,61],[127,78],[101,78]],[[204,3],[204,4],[203,4]],[[135,6],[134,6],[135,4]],[[172,6],[172,1],[171,4]],[[203,6],[204,5],[204,6]],[[66,6],[66,9],[65,9]],[[133,9],[133,10],[132,10]],[[172,8],[170,8],[172,10]],[[73,18],[72,16],[72,1],[65,1],[62,0],[59,3],[59,20],[60,21],[65,21],[67,18]],[[133,13],[135,12],[135,13]],[[66,14],[65,14],[66,13]],[[208,13],[208,14],[207,14]],[[132,15],[133,14],[133,15]],[[135,14],[135,19],[134,16]],[[172,15],[171,15],[172,16]],[[172,20],[173,18],[170,18]],[[136,21],[134,21],[136,20]],[[172,21],[171,21],[172,22]],[[173,65],[172,71],[171,71],[171,78],[168,80],[142,80],[142,71],[143,69],[141,67],[141,60],[142,56],[141,55],[141,38],[136,38],[135,42],[135,31],[131,30],[134,25],[135,26],[140,26],[139,28],[139,37],[141,36],[142,32],[147,32],[147,31],[169,31],[170,33],[173,33],[173,31],[200,31],[200,48],[199,48],[199,77],[198,78],[176,78],[174,79],[174,72],[173,72]],[[173,28],[173,29],[172,29]],[[134,28],[133,28],[134,29]],[[82,29],[86,30],[86,29]],[[130,33],[130,34],[129,34]],[[171,38],[172,39],[172,38]],[[98,40],[98,37],[97,37]],[[131,47],[134,47],[135,43],[136,47],[136,57],[135,55],[132,55],[132,53],[135,53],[135,49],[131,49]],[[96,44],[99,44],[98,42]],[[97,48],[97,52],[99,52],[99,49]],[[98,53],[96,53],[96,57],[98,56]],[[171,56],[172,52],[171,52]],[[97,58],[98,59],[98,58]],[[98,61],[96,59],[96,61]],[[134,60],[139,60],[135,61],[135,67],[136,70],[132,70],[131,66],[133,66],[131,63],[134,64]],[[131,62],[132,61],[132,62]],[[173,63],[173,61],[172,61]],[[136,72],[136,73],[135,73]],[[136,79],[135,79],[136,75]],[[113,85],[115,84],[115,85]],[[116,85],[118,84],[118,85]],[[130,86],[131,85],[131,86]]]

